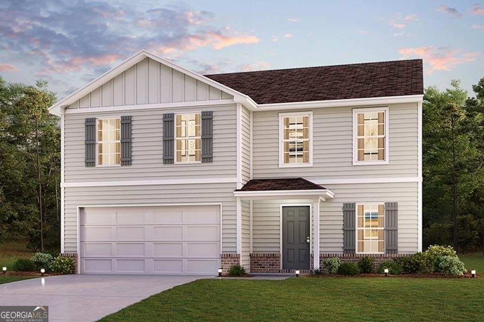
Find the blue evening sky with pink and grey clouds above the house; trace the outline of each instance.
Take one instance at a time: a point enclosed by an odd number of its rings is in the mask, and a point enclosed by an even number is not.
[[[0,75],[59,98],[145,48],[221,73],[423,58],[425,87],[484,77],[484,1],[2,0]]]

